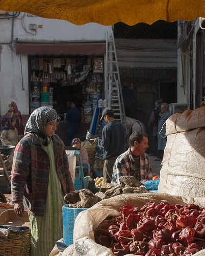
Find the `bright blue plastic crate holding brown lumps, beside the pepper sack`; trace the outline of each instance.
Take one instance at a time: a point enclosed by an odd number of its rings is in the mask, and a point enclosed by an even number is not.
[[[76,217],[83,210],[89,208],[70,208],[69,204],[63,205],[63,240],[67,246],[73,244],[73,228]]]

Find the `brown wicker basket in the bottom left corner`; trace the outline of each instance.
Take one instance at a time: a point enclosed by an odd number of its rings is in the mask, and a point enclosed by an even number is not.
[[[8,240],[0,237],[1,256],[31,256],[30,229],[10,231]]]

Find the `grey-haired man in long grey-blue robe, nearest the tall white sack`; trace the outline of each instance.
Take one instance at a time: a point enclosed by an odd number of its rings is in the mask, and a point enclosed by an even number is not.
[[[161,104],[161,113],[160,113],[160,119],[158,123],[158,150],[161,152],[161,160],[164,156],[164,148],[167,143],[166,138],[166,120],[170,117],[170,113],[168,110],[168,104],[162,103]]]

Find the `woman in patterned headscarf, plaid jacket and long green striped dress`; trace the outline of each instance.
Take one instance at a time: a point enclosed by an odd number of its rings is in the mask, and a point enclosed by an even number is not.
[[[16,214],[29,212],[32,256],[48,256],[63,237],[64,196],[74,191],[63,141],[54,134],[59,116],[42,106],[30,116],[14,152],[11,192]]]

